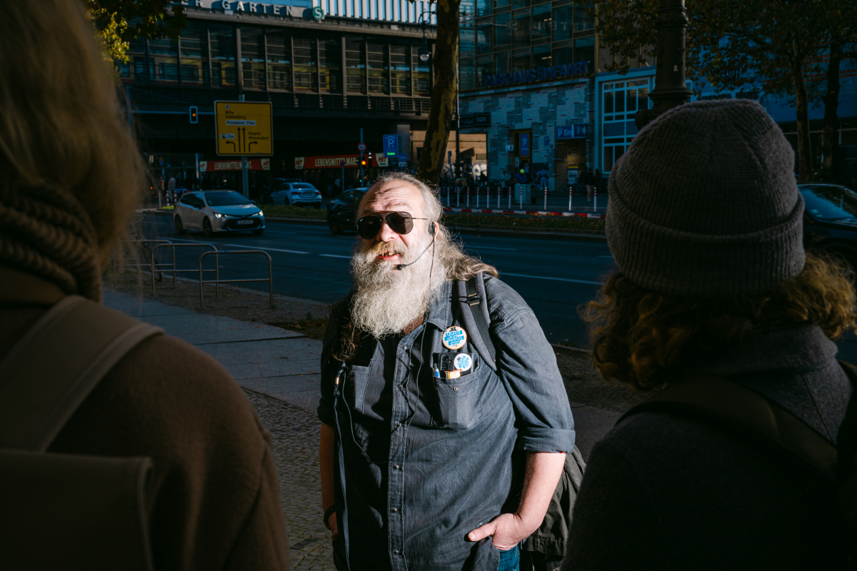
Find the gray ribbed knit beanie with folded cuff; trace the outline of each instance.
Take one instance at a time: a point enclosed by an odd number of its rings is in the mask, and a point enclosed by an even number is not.
[[[643,288],[759,294],[803,270],[794,152],[754,101],[698,101],[664,113],[615,164],[608,190],[610,251]]]

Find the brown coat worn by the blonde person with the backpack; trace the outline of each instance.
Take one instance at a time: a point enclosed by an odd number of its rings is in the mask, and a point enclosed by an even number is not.
[[[0,360],[64,295],[0,265]],[[186,342],[153,336],[132,349],[49,451],[152,458],[147,518],[158,571],[289,568],[270,433],[223,367]]]

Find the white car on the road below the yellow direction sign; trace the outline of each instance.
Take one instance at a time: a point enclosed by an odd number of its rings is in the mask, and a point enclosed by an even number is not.
[[[234,190],[205,190],[184,193],[172,213],[178,234],[189,229],[215,232],[253,232],[265,229],[265,215],[259,207]]]

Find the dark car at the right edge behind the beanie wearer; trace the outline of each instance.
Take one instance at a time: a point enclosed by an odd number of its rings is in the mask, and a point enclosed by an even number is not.
[[[806,203],[804,246],[824,250],[857,268],[857,193],[838,184],[798,185]]]

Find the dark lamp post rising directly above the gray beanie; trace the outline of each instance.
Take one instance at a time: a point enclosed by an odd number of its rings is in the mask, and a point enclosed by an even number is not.
[[[668,110],[687,103],[692,95],[685,78],[685,0],[660,0],[656,28],[655,89],[649,94],[654,104],[651,109],[638,110],[634,115],[634,124],[638,129],[644,128]]]

